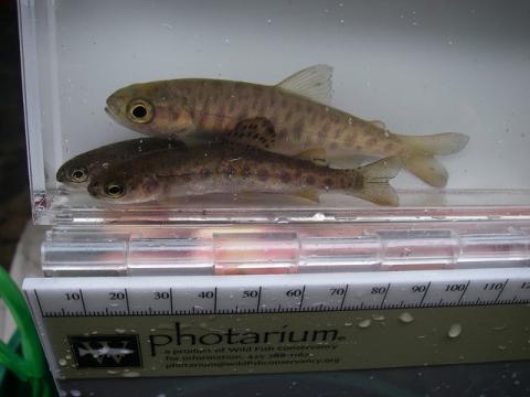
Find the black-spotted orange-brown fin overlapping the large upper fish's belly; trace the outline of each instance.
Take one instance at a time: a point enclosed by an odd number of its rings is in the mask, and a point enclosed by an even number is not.
[[[268,150],[276,141],[273,124],[265,117],[241,120],[227,135],[229,141]]]

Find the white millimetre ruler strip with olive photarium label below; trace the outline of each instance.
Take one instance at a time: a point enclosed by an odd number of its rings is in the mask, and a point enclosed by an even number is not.
[[[23,289],[61,378],[530,358],[530,268],[30,278]]]

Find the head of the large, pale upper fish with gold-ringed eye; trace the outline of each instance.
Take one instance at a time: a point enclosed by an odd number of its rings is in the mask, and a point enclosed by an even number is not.
[[[187,97],[167,82],[132,84],[107,98],[105,111],[118,124],[150,136],[180,136],[193,129]]]

